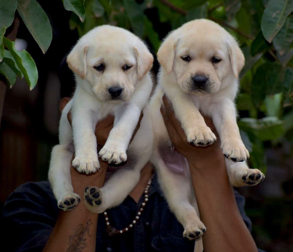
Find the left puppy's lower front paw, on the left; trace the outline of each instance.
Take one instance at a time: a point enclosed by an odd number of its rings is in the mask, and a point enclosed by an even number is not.
[[[83,156],[76,156],[72,161],[72,166],[80,173],[91,174],[100,169],[97,153],[87,153]]]

